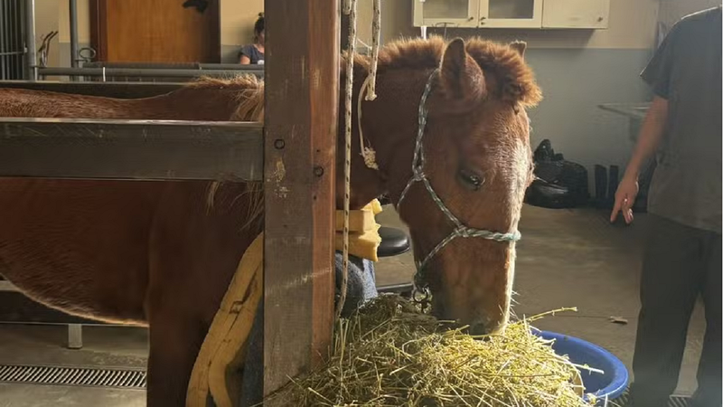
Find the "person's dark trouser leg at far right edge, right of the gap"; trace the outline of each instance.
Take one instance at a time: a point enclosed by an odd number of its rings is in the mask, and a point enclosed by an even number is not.
[[[703,281],[703,304],[706,308],[706,336],[698,365],[698,391],[691,407],[721,406],[721,239],[711,235],[707,242],[708,261]]]

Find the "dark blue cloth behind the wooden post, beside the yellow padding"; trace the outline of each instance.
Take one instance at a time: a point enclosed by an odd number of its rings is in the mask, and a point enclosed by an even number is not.
[[[336,252],[334,256],[336,271],[336,293],[334,305],[339,298],[339,288],[342,280],[342,253]],[[349,256],[349,283],[347,297],[342,311],[343,316],[349,316],[352,311],[360,307],[365,301],[379,295],[376,287],[374,263],[370,260]],[[244,361],[243,383],[241,385],[241,407],[260,403],[264,396],[264,307],[263,301],[258,307],[254,326],[249,334],[246,360]],[[289,333],[293,335],[293,333]]]

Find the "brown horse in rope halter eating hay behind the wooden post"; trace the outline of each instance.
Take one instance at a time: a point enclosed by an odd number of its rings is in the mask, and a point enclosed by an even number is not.
[[[364,165],[353,143],[352,207],[389,194],[408,223],[416,258],[429,257],[425,276],[436,312],[478,332],[507,321],[514,243],[460,237],[437,244],[455,230],[451,214],[485,232],[517,229],[531,182],[524,108],[540,99],[523,53],[523,43],[481,40],[387,45],[378,98],[362,104],[361,126],[378,170]],[[357,93],[368,64],[357,59]],[[422,169],[435,194],[424,181],[407,188],[422,146],[419,105],[427,93]],[[0,116],[251,120],[259,117],[262,96],[262,84],[245,77],[136,100],[0,90]],[[341,185],[341,168],[337,174]],[[342,191],[337,187],[340,204]],[[249,184],[3,179],[0,273],[48,306],[147,324],[148,405],[180,406],[240,256],[263,227],[261,199],[258,185]]]

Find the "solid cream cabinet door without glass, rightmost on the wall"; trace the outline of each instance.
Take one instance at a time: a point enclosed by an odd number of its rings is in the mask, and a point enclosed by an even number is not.
[[[607,28],[610,0],[545,0],[542,28]]]

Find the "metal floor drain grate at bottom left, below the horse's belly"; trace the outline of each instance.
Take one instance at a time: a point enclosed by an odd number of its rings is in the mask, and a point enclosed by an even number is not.
[[[0,383],[145,389],[146,371],[96,367],[0,364]]]

